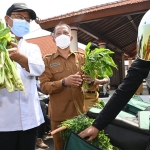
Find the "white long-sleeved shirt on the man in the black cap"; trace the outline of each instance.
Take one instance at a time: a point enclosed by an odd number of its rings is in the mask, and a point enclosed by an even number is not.
[[[35,76],[40,76],[45,65],[37,45],[21,39],[19,51],[28,57],[30,73],[17,64],[26,94],[22,91],[0,90],[0,131],[28,130],[44,122]]]

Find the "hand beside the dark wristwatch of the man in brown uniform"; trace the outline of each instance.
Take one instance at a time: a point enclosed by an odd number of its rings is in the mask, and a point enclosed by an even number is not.
[[[75,85],[75,86],[80,86],[82,84],[82,77],[79,74],[79,72],[77,72],[74,75],[70,75],[67,78],[65,78],[65,84],[66,85]]]

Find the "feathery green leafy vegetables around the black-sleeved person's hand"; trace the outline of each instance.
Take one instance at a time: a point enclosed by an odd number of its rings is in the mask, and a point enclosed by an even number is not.
[[[65,126],[67,129],[61,131],[60,135],[64,140],[66,140],[70,130],[79,134],[81,131],[91,126],[93,121],[94,119],[91,119],[84,114],[80,114],[79,116],[63,121],[59,127]],[[104,130],[99,131],[98,136],[90,143],[102,150],[119,150],[119,148],[110,143],[110,139],[105,135]]]

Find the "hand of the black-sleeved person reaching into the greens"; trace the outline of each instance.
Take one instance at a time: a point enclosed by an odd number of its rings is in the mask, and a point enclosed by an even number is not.
[[[86,128],[84,131],[79,133],[82,138],[88,137],[87,141],[90,142],[98,135],[99,130],[93,126]]]

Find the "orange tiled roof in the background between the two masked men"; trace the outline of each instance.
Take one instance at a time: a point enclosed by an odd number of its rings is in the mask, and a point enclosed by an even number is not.
[[[52,36],[42,36],[38,38],[28,39],[26,41],[29,43],[37,44],[40,47],[42,56],[52,54],[57,50]],[[79,48],[78,51],[84,53],[84,50],[81,48]]]

